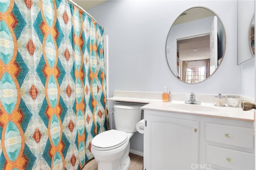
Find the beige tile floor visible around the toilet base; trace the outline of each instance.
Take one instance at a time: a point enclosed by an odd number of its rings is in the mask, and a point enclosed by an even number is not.
[[[129,153],[131,163],[128,170],[142,170],[143,168],[143,157],[136,154]],[[82,170],[97,170],[98,163],[95,159],[90,160]]]

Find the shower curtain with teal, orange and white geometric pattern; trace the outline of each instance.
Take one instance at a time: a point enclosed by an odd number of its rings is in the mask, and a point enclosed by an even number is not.
[[[107,130],[103,28],[65,0],[0,7],[0,169],[82,168]]]

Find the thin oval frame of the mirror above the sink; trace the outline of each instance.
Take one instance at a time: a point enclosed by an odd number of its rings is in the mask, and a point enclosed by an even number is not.
[[[223,28],[223,32],[224,32],[224,49],[223,49],[223,54],[222,54],[222,60],[220,61],[220,63],[218,64],[217,68],[214,70],[214,72],[213,72],[209,77],[207,77],[206,79],[204,79],[203,81],[198,82],[198,83],[187,83],[187,82],[184,82],[184,81],[182,81],[181,79],[179,79],[176,74],[174,74],[174,72],[172,71],[172,69],[171,69],[171,67],[170,67],[170,64],[169,64],[169,62],[168,62],[167,50],[166,50],[166,49],[167,49],[168,37],[169,37],[170,31],[171,31],[172,26],[174,25],[175,21],[180,17],[181,14],[183,14],[184,12],[186,12],[187,10],[190,10],[190,9],[192,9],[192,8],[204,8],[204,9],[207,9],[207,10],[209,10],[210,12],[212,12],[212,13],[218,18],[218,20],[220,21],[220,23],[221,23],[221,25],[222,25],[222,28]],[[224,28],[224,24],[223,24],[222,21],[220,20],[219,16],[218,16],[215,12],[213,12],[212,10],[210,10],[210,9],[207,8],[207,7],[204,7],[204,6],[193,6],[193,7],[191,7],[191,8],[188,8],[188,9],[184,10],[181,14],[179,14],[178,17],[173,21],[173,23],[172,23],[172,25],[171,25],[171,27],[170,27],[170,29],[169,29],[169,31],[168,31],[167,37],[166,37],[165,49],[164,49],[164,50],[165,50],[166,62],[167,62],[167,64],[168,64],[168,67],[169,67],[170,71],[172,72],[172,74],[176,77],[176,79],[180,80],[180,82],[183,82],[183,83],[185,83],[185,84],[199,84],[199,83],[202,83],[202,82],[208,80],[208,79],[218,70],[218,68],[220,67],[220,65],[221,65],[221,63],[222,63],[222,61],[223,61],[224,55],[225,55],[225,53],[226,53],[226,31],[225,31],[225,28]],[[172,56],[171,56],[171,57],[172,57]]]

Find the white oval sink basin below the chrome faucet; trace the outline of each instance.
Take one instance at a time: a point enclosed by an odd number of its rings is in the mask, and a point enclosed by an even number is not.
[[[214,106],[204,106],[201,104],[168,104],[170,109],[185,110],[185,111],[204,111],[204,112],[216,112],[220,111],[219,108]]]

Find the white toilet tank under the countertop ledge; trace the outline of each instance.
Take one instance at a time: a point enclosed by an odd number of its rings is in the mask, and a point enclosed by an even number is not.
[[[141,106],[138,104],[115,104],[116,129],[124,132],[136,132],[136,124],[141,120]]]

